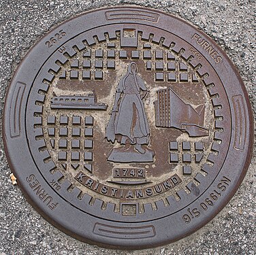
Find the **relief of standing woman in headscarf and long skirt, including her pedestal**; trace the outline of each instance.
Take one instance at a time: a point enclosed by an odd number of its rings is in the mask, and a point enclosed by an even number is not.
[[[153,162],[155,156],[155,152],[147,147],[150,130],[142,101],[148,91],[137,71],[137,65],[129,63],[127,73],[116,88],[106,128],[106,139],[112,143],[116,140],[122,145],[110,152],[108,160],[113,162]]]

